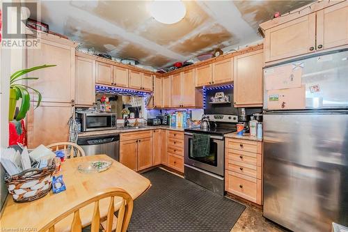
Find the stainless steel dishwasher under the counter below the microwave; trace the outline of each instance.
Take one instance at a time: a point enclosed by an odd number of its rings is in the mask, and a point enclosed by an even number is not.
[[[84,149],[86,155],[105,154],[113,160],[120,161],[120,134],[80,137],[77,144]]]

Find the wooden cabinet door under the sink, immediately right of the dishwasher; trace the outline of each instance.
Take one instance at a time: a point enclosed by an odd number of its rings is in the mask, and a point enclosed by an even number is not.
[[[138,171],[138,142],[128,140],[120,142],[120,163],[133,171]]]

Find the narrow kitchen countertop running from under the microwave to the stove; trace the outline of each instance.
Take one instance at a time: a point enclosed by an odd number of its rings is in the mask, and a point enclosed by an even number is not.
[[[120,134],[127,132],[136,132],[141,130],[155,130],[155,129],[166,129],[166,130],[176,130],[176,131],[184,131],[184,127],[172,127],[169,125],[146,125],[141,128],[132,128],[132,129],[114,129],[114,130],[96,130],[96,131],[88,131],[88,132],[80,132],[79,137],[93,136],[93,135],[105,135],[105,134]]]

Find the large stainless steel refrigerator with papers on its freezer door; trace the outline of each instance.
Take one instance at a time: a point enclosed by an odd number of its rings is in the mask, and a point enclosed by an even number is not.
[[[348,51],[264,68],[263,154],[264,217],[348,226]]]

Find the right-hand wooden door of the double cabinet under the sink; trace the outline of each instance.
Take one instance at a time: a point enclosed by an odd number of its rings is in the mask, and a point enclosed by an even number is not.
[[[138,171],[152,167],[152,137],[138,141]]]

